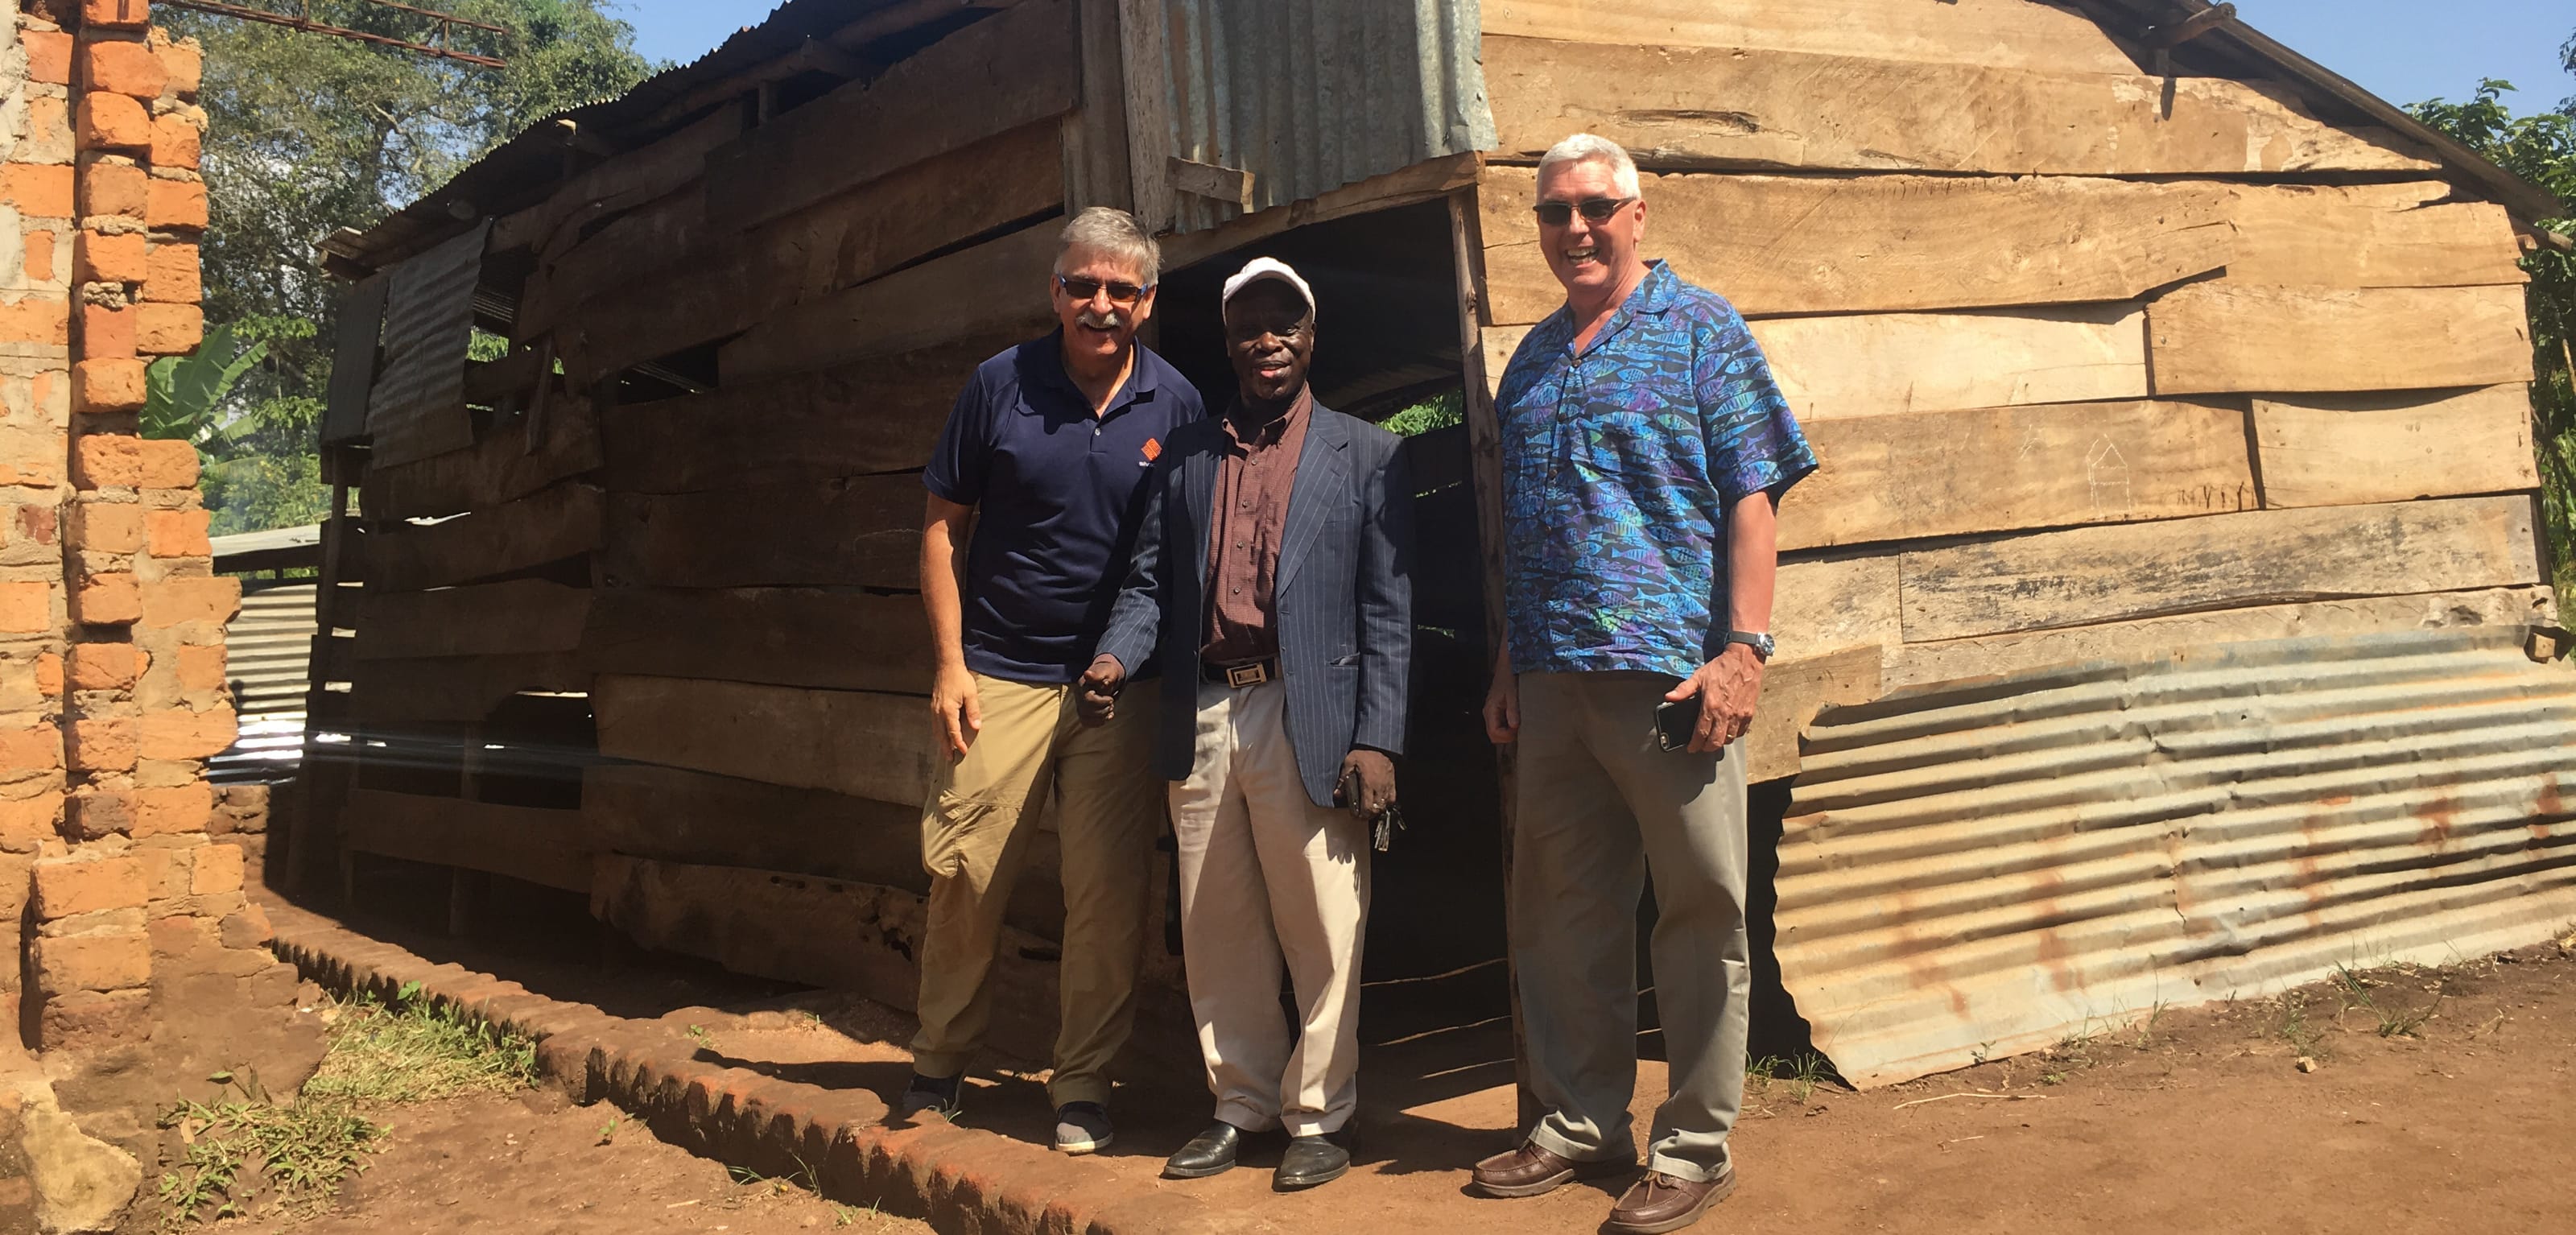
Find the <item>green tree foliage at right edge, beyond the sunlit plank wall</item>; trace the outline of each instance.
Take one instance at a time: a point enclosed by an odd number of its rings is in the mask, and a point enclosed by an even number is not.
[[[2576,34],[2561,46],[2576,75]],[[2486,155],[2499,168],[2576,204],[2576,95],[2558,111],[2514,116],[2504,80],[2478,83],[2465,103],[2416,103],[2416,119]],[[2540,229],[2576,235],[2576,217],[2543,219]],[[2532,441],[2540,451],[2543,508],[2558,549],[2558,603],[2576,624],[2576,253],[2540,248],[2522,258],[2532,315]]]

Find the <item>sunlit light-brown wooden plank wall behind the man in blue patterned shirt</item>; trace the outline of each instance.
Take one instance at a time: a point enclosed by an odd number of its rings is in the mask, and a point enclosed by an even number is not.
[[[2519,250],[2427,150],[2027,0],[1486,0],[1484,64],[1489,387],[1564,299],[1538,155],[1597,131],[1646,168],[1646,255],[1752,320],[1824,459],[1780,523],[1788,724],[2540,614]]]

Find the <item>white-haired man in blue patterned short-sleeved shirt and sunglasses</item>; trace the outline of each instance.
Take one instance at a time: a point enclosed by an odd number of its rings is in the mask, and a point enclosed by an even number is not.
[[[1672,1096],[1646,1176],[1605,1230],[1700,1220],[1736,1186],[1744,1098],[1744,758],[1770,606],[1775,503],[1816,469],[1762,348],[1726,299],[1638,255],[1646,201],[1618,144],[1538,162],[1538,248],[1566,304],[1502,374],[1510,639],[1486,735],[1520,745],[1512,959],[1546,1116],[1476,1163],[1538,1196],[1636,1163],[1636,908],[1651,871],[1654,985]],[[1687,748],[1656,706],[1692,701]]]

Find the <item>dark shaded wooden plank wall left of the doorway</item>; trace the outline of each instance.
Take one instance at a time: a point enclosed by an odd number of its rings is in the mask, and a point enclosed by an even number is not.
[[[719,103],[497,219],[487,271],[528,271],[513,343],[551,351],[559,387],[533,441],[497,415],[366,480],[386,552],[355,694],[384,730],[469,735],[518,691],[587,694],[598,761],[554,812],[572,822],[523,846],[526,879],[572,887],[595,859],[927,890],[920,469],[971,369],[1051,325],[1066,183],[1097,178],[1066,142],[1100,144],[1069,49],[1115,10],[994,8],[801,106]],[[1115,77],[1103,98],[1123,106]],[[471,869],[510,866],[492,835],[528,817],[358,807],[386,820],[361,846]],[[1043,835],[1015,926],[1059,928],[1054,864]],[[621,905],[605,884],[595,905]]]

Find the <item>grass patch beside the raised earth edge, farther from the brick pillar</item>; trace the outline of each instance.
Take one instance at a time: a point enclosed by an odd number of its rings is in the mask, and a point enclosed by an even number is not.
[[[448,1006],[384,1008],[368,995],[340,1006],[307,1098],[402,1104],[459,1093],[513,1093],[536,1083],[536,1042],[466,1021]]]

